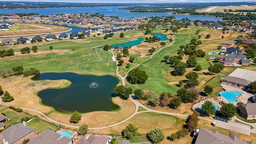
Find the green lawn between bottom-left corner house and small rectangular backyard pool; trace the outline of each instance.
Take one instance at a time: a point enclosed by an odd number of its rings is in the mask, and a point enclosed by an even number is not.
[[[26,125],[31,128],[34,128],[36,131],[38,131],[39,134],[44,132],[44,129],[46,128],[46,126],[50,126],[54,129],[57,129],[57,126],[54,126],[54,125],[44,122],[42,120],[38,120],[37,118],[31,120]]]

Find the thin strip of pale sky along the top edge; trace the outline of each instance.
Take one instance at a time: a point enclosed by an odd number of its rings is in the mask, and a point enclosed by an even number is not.
[[[8,2],[86,2],[85,0],[0,0]],[[254,0],[96,0],[94,3],[253,2]]]

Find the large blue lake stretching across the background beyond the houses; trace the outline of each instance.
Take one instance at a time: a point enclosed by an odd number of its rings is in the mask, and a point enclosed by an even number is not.
[[[119,18],[135,18],[135,17],[150,17],[150,16],[170,16],[172,12],[164,13],[133,13],[128,10],[118,10],[118,8],[125,8],[128,6],[108,6],[108,7],[90,7],[90,8],[34,8],[34,9],[14,9],[6,10],[1,9],[1,14],[11,14],[11,13],[30,13],[35,12],[40,15],[51,15],[51,14],[84,14],[84,13],[100,13],[107,16],[118,16]],[[216,18],[214,16],[190,16],[190,15],[174,15],[178,20],[182,18],[189,18],[190,20],[212,20],[217,22],[221,18]]]

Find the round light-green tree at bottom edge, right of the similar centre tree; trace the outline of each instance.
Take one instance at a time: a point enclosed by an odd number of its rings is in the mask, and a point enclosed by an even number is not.
[[[147,138],[150,142],[156,144],[164,140],[164,132],[160,128],[154,128],[147,134]]]

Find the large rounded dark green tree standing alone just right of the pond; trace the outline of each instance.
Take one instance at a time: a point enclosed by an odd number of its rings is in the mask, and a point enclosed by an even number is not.
[[[148,80],[148,75],[138,68],[132,69],[127,75],[127,81],[131,84],[143,84]]]

